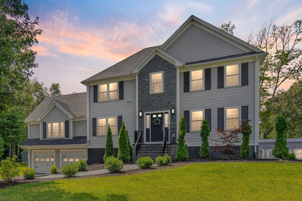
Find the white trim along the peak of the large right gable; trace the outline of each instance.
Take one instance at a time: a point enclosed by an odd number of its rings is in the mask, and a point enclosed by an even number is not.
[[[243,40],[226,33],[225,31],[205,22],[204,20],[199,19],[198,17],[195,17],[194,15],[191,15],[188,20],[185,21],[184,24],[182,24],[181,27],[179,27],[173,34],[170,36],[168,40],[166,40],[162,46],[160,46],[160,49],[166,50],[168,47],[191,25],[194,24],[195,26],[219,37],[220,39],[223,39],[226,42],[229,42],[230,44],[246,51],[246,52],[263,52],[262,50],[252,46],[251,44],[244,42]]]

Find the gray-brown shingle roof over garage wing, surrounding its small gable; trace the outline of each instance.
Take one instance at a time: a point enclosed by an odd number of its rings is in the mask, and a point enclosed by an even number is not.
[[[34,109],[34,111],[31,112],[31,114],[24,121],[35,121],[53,100],[56,100],[74,117],[86,116],[86,99],[86,92],[47,97],[37,106],[37,108]]]

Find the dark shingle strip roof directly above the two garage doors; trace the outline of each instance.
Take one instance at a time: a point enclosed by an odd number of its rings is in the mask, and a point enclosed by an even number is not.
[[[73,137],[72,139],[27,139],[20,146],[40,146],[40,145],[66,145],[66,144],[86,144],[87,136]]]

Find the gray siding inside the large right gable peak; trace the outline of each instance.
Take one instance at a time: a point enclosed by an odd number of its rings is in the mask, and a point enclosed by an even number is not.
[[[183,62],[245,53],[193,24],[166,49],[166,52]]]

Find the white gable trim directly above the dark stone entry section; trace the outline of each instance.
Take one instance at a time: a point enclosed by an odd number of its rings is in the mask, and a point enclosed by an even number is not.
[[[131,74],[139,73],[140,70],[155,56],[159,55],[160,57],[164,58],[165,60],[169,61],[171,64],[175,65],[175,67],[183,67],[185,65],[184,62],[180,61],[179,59],[173,57],[172,55],[168,54],[167,52],[159,49],[158,47],[154,47],[136,67],[134,67],[131,71]]]

